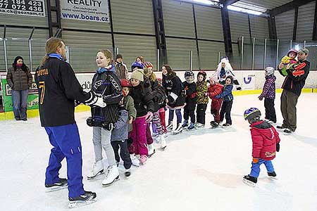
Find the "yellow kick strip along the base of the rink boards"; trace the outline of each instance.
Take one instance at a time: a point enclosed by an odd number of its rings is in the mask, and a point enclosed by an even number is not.
[[[249,94],[261,94],[261,89],[256,90],[240,90],[240,91],[232,91],[233,96],[242,96],[242,95],[249,95]],[[276,93],[282,93],[282,89],[276,89]],[[317,93],[317,89],[302,89],[302,93]],[[86,105],[80,105],[75,107],[75,113],[79,112],[87,112],[90,110],[89,106]],[[39,116],[39,110],[27,110],[27,118],[32,117],[38,117]],[[13,112],[4,112],[0,113],[0,121],[2,120],[13,120],[14,115]]]

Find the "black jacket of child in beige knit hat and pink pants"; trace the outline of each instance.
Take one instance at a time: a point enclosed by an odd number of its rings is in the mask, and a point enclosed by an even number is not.
[[[144,88],[144,83],[140,82],[137,87],[132,87],[130,96],[135,101],[135,109],[137,110],[137,117],[147,115],[148,112],[154,113],[153,97],[149,94],[149,89]]]

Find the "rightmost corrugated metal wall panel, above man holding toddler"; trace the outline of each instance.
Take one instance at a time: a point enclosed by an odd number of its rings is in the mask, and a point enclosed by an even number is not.
[[[297,40],[313,39],[313,17],[315,15],[316,1],[300,6],[298,8],[298,23],[297,23]]]

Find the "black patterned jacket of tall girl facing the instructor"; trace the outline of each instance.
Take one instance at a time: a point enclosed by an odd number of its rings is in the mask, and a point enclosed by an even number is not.
[[[123,98],[120,79],[116,72],[96,72],[92,78],[92,91],[101,95],[106,103],[105,108],[92,107],[93,126],[101,127],[102,122],[115,123],[118,120],[118,103]]]

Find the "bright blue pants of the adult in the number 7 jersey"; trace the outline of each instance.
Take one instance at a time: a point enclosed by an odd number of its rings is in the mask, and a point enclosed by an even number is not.
[[[49,166],[46,168],[45,184],[59,181],[61,161],[66,158],[68,196],[80,196],[85,191],[82,184],[82,145],[77,124],[45,127],[45,130],[49,135],[49,142],[54,146],[49,156]]]

